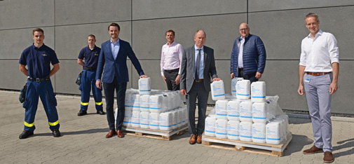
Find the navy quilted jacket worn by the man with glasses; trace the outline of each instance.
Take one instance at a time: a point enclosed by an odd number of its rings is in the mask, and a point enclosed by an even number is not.
[[[231,52],[230,71],[236,77],[238,76],[238,44],[241,37],[238,37],[233,43]],[[243,71],[244,74],[252,74],[256,71],[263,74],[266,67],[266,48],[259,36],[249,34],[243,44]]]

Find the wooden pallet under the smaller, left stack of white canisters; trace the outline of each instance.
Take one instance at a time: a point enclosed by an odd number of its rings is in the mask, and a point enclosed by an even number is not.
[[[135,128],[135,127],[123,127],[122,130],[126,132],[127,135],[133,135],[137,137],[148,137],[154,139],[163,139],[163,140],[171,140],[173,135],[183,135],[184,130],[188,128],[187,125],[182,127],[165,131],[165,130],[153,130],[153,129],[145,129],[145,128]]]

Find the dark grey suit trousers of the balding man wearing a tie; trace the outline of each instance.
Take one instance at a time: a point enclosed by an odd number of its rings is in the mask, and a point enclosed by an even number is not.
[[[198,124],[196,127],[196,100],[198,97]],[[193,82],[193,86],[186,95],[188,111],[188,130],[190,134],[202,135],[205,128],[205,112],[207,111],[207,97],[203,82]]]

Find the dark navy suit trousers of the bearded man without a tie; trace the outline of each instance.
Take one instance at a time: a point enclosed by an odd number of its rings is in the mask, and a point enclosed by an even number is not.
[[[127,82],[118,83],[114,76],[112,83],[103,83],[104,97],[106,98],[107,121],[109,130],[121,130],[125,114],[125,91]],[[116,90],[117,118],[116,128],[114,128],[114,90]]]

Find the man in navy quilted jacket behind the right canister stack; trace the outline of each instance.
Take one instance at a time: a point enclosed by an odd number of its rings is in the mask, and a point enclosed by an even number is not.
[[[231,78],[243,77],[252,83],[261,78],[266,67],[266,48],[259,36],[250,34],[247,23],[241,23],[240,34],[231,52]]]

